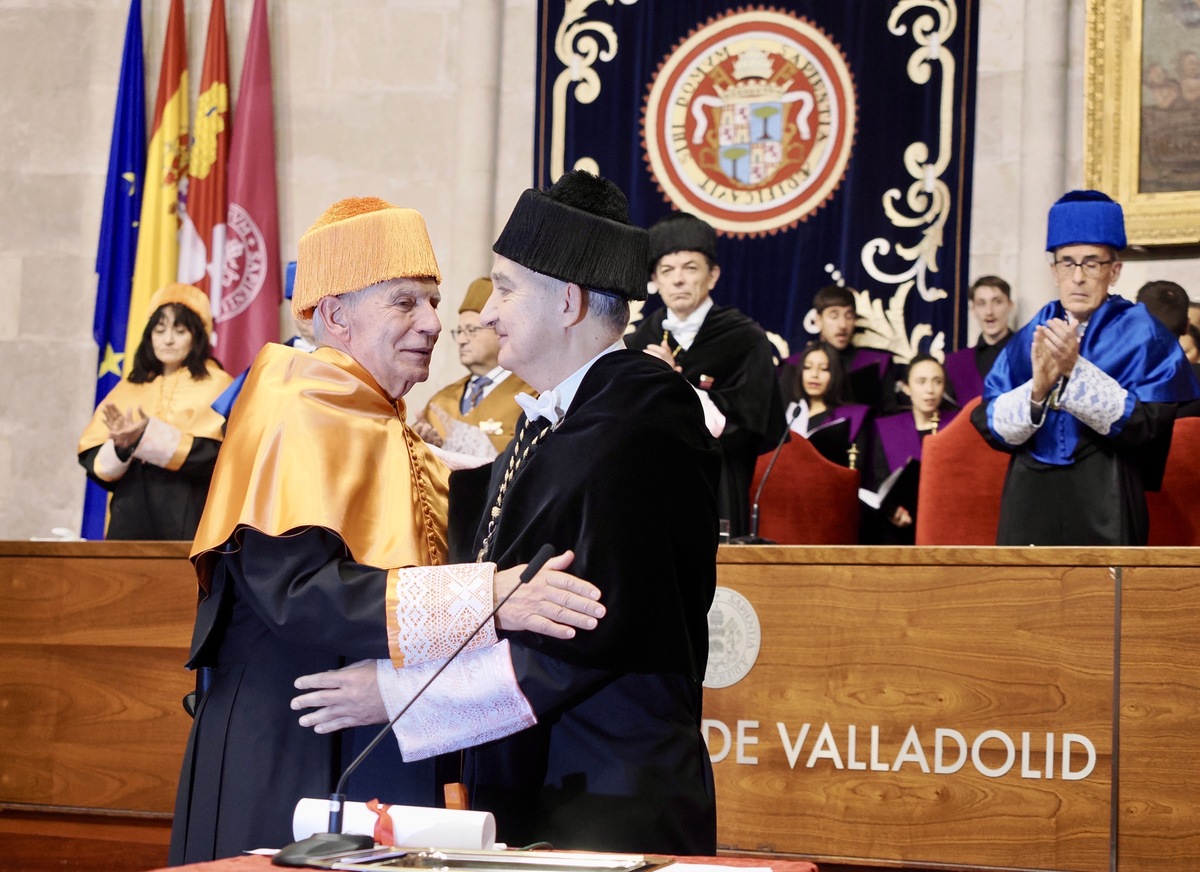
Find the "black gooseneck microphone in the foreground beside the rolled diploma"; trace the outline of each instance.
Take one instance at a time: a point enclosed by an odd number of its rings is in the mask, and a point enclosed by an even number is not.
[[[438,667],[437,672],[430,675],[428,680],[422,684],[413,698],[404,703],[404,708],[396,712],[396,716],[384,724],[383,729],[376,735],[370,744],[362,748],[362,752],[350,760],[350,764],[342,772],[342,777],[337,780],[337,786],[334,788],[334,793],[329,795],[329,832],[314,832],[307,838],[301,838],[299,842],[292,842],[292,844],[284,846],[280,852],[271,858],[271,864],[275,866],[314,866],[320,868],[329,868],[328,864],[320,862],[323,858],[329,858],[334,854],[343,854],[352,850],[368,850],[374,847],[374,837],[365,835],[355,835],[349,832],[342,832],[342,807],[346,802],[346,782],[354,774],[354,770],[359,768],[359,764],[366,759],[366,756],[374,751],[376,746],[384,740],[384,736],[391,733],[391,728],[396,726],[396,722],[404,716],[404,712],[413,708],[413,704],[421,698],[428,686],[433,684],[438,675],[445,670],[455,658],[462,654],[462,650],[470,644],[470,641],[479,636],[480,631],[487,626],[487,623],[496,617],[504,603],[509,601],[526,582],[529,582],[534,576],[536,576],[541,567],[546,565],[546,561],[554,555],[554,546],[546,543],[538,549],[534,554],[533,560],[522,570],[520,581],[512,585],[512,590],[506,593],[500,601],[496,603],[493,608],[484,620],[479,623],[470,636],[462,641],[462,643],[454,649],[454,653],[443,661],[442,666]]]

